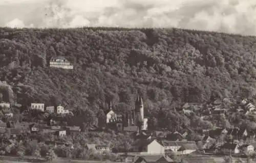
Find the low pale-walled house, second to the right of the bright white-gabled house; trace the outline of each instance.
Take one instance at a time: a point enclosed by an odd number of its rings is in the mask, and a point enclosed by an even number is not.
[[[181,152],[180,154],[190,154],[198,150],[195,141],[177,141],[176,143],[181,146],[178,150]]]

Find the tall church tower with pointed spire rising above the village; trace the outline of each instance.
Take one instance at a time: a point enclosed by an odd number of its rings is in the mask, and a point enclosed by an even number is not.
[[[139,95],[135,101],[135,116],[136,116],[136,124],[137,126],[142,129],[143,121],[144,121],[144,105],[142,97]]]

